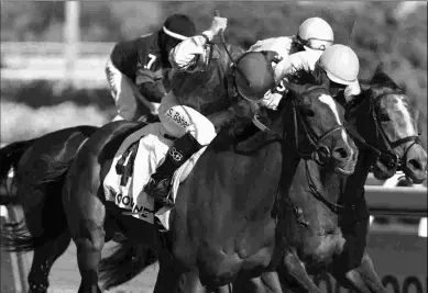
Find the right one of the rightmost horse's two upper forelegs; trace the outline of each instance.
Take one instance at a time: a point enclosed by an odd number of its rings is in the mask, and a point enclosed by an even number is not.
[[[373,261],[367,252],[364,252],[360,267],[343,272],[341,268],[334,268],[331,274],[340,282],[341,285],[351,288],[360,293],[386,293],[381,278],[374,270]]]

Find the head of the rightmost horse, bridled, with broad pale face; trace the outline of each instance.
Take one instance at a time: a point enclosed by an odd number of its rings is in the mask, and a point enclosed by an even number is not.
[[[377,68],[370,89],[360,97],[366,106],[361,108],[359,132],[377,154],[373,174],[387,179],[403,170],[408,179],[421,183],[427,177],[427,153],[420,144],[416,113],[406,93]],[[359,121],[360,121],[359,120]]]

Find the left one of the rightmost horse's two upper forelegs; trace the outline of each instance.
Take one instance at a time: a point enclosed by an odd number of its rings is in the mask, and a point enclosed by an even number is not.
[[[299,289],[305,292],[321,293],[319,288],[314,283],[308,273],[306,272],[304,263],[300,259],[292,253],[287,252],[283,260],[283,266],[279,266],[278,271],[285,278],[289,278],[292,282],[297,282]]]

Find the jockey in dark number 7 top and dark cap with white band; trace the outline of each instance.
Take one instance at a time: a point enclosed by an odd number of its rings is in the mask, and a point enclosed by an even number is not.
[[[156,33],[119,42],[107,61],[106,75],[117,106],[117,120],[138,121],[145,109],[157,115],[161,100],[171,88],[169,52],[195,35],[194,22],[173,14]]]

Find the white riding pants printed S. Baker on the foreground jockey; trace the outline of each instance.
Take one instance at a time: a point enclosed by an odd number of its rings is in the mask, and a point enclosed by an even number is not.
[[[206,146],[217,135],[212,123],[195,109],[182,105],[173,91],[162,99],[158,113],[171,136],[178,138],[189,132],[201,146]]]

